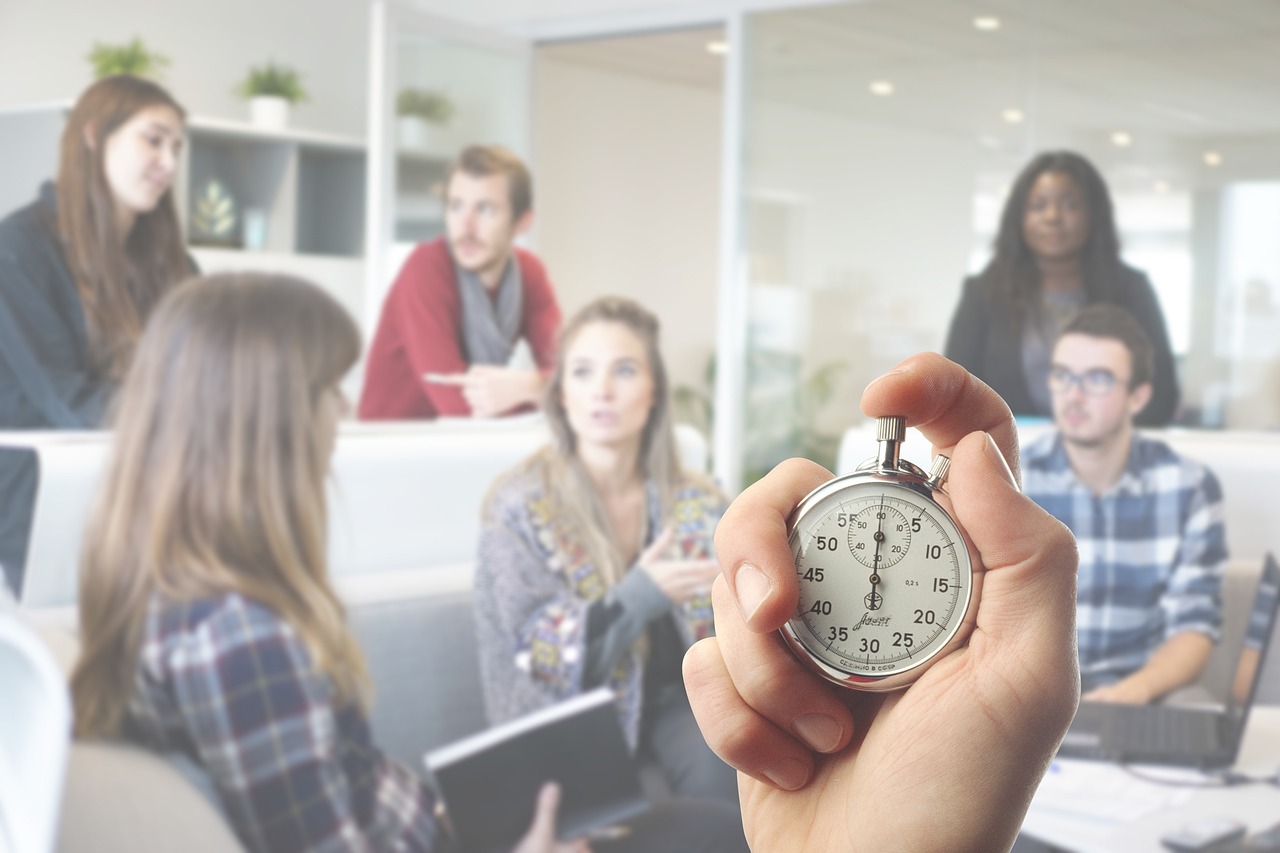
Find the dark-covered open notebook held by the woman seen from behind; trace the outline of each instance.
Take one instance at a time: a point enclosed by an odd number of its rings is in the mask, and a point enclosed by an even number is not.
[[[588,838],[649,808],[607,688],[434,749],[425,762],[463,853],[509,853],[547,781],[561,786],[561,839]]]

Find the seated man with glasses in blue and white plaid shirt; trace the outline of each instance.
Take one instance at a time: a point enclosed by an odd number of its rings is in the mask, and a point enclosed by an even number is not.
[[[1023,452],[1023,488],[1080,548],[1085,699],[1146,703],[1199,676],[1221,624],[1222,492],[1203,465],[1133,429],[1152,350],[1124,309],[1083,309],[1048,374],[1053,433]]]

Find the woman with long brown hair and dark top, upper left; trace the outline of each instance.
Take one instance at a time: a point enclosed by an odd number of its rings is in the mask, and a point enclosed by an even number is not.
[[[56,184],[0,220],[0,429],[101,425],[152,307],[195,272],[173,201],[184,132],[160,86],[100,79],[67,118]],[[15,590],[35,482],[33,462],[0,457],[0,565]]]

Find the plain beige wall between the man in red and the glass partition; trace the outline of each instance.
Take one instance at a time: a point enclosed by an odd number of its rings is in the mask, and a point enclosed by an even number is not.
[[[673,384],[716,348],[721,92],[540,59],[538,254],[570,314],[607,293],[662,320]]]

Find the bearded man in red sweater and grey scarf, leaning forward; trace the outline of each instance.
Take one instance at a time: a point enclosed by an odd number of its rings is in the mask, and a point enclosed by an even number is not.
[[[515,247],[532,215],[516,155],[462,151],[447,178],[445,237],[413,250],[383,304],[361,419],[492,418],[536,405],[561,314],[541,263]],[[521,338],[534,366],[508,366]]]

